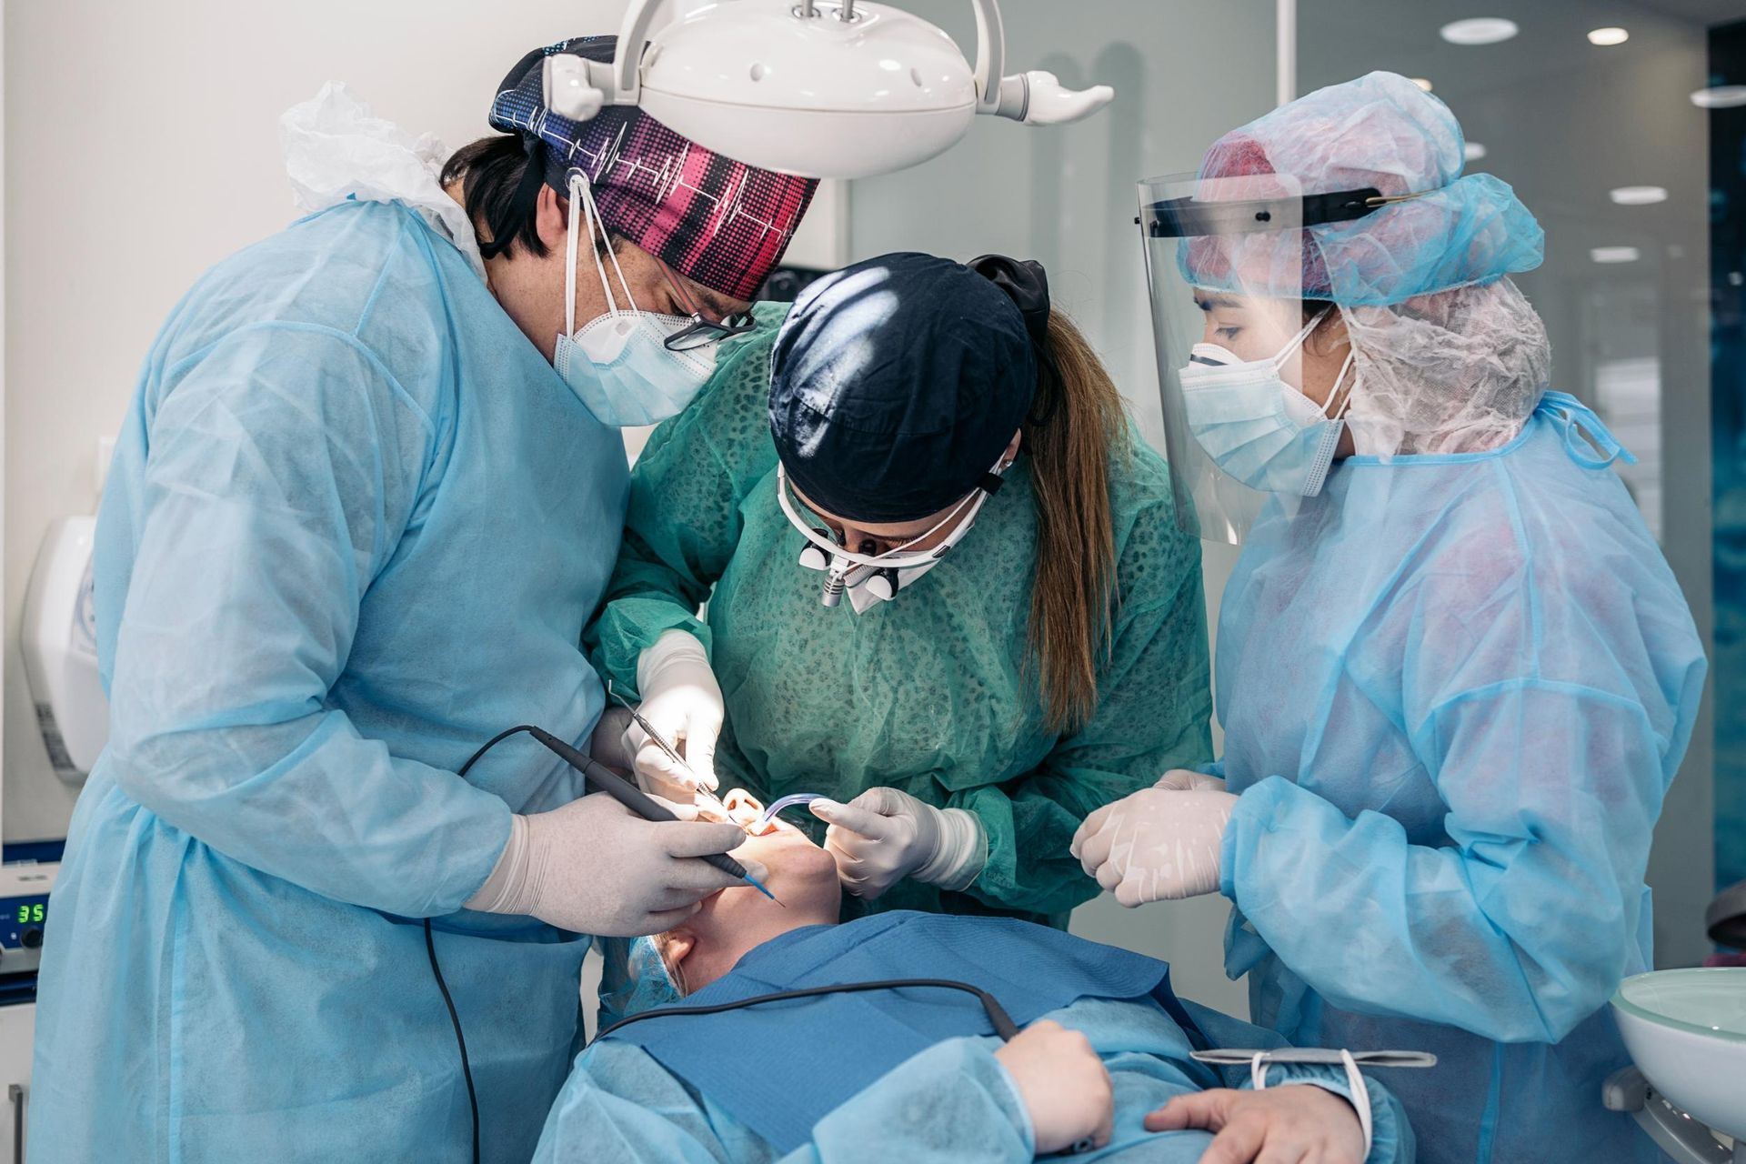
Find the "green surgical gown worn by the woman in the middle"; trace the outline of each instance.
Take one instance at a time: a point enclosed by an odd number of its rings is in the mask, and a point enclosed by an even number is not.
[[[967,890],[901,881],[876,902],[850,899],[850,911],[1063,925],[1098,892],[1067,852],[1079,822],[1210,756],[1200,543],[1177,529],[1168,469],[1138,442],[1112,461],[1119,604],[1096,712],[1058,735],[1027,658],[1030,457],[1020,454],[976,527],[892,602],[826,609],[822,576],[798,564],[805,541],[777,504],[768,323],[725,346],[704,394],[637,461],[608,604],[588,632],[595,663],[634,689],[637,656],[662,632],[697,635],[726,702],[725,789],[847,801],[890,785],[981,818],[988,862]],[[791,818],[822,834],[821,822]]]

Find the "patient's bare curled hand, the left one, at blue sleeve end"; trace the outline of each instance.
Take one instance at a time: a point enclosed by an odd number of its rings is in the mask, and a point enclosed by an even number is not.
[[[993,1052],[1013,1077],[1030,1113],[1037,1155],[1081,1140],[1102,1148],[1116,1119],[1109,1072],[1091,1040],[1060,1023],[1032,1023]]]

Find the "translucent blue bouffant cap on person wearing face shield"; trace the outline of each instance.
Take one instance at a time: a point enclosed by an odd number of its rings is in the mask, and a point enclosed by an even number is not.
[[[1194,286],[1241,295],[1383,307],[1533,270],[1545,232],[1509,183],[1461,176],[1463,148],[1449,106],[1399,73],[1369,73],[1301,96],[1219,138],[1200,176],[1259,181],[1280,175],[1289,180],[1282,188],[1306,195],[1376,188],[1418,197],[1303,232],[1215,246],[1189,239],[1179,248],[1182,274]],[[1217,188],[1231,197],[1243,183]]]

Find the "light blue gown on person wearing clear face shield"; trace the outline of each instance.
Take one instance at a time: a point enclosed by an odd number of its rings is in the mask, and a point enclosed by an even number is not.
[[[1219,620],[1226,970],[1292,1042],[1433,1051],[1392,1077],[1433,1164],[1659,1159],[1601,1108],[1606,1000],[1652,965],[1704,656],[1564,401],[1495,452],[1344,461]]]

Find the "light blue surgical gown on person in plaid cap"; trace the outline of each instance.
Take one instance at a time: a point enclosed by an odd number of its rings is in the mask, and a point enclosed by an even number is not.
[[[96,544],[110,745],[42,965],[30,1159],[526,1161],[587,939],[457,913],[580,780],[623,447],[416,213],[208,272],[154,344]]]

